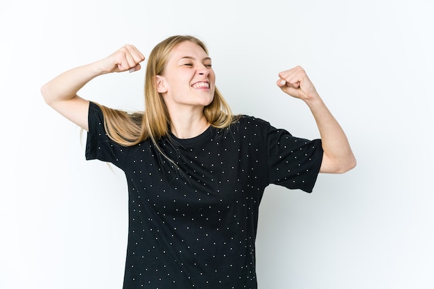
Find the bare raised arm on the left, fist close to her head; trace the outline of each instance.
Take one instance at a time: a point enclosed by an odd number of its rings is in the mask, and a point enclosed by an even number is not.
[[[87,114],[89,100],[77,92],[90,80],[105,73],[137,71],[144,55],[134,46],[125,45],[107,58],[60,73],[41,88],[45,102],[76,125],[89,130]]]

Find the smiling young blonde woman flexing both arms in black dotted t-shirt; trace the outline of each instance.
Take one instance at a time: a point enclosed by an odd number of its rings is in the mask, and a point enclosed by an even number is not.
[[[309,106],[321,139],[232,115],[205,44],[189,35],[168,37],[150,53],[144,112],[77,95],[93,78],[137,71],[144,60],[125,45],[42,87],[47,104],[87,130],[86,159],[125,172],[124,288],[257,288],[254,241],[264,189],[311,192],[318,173],[354,168],[347,137],[302,67],[279,73],[277,85]]]

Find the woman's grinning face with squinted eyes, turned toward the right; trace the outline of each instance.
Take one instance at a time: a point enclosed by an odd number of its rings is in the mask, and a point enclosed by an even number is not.
[[[177,44],[168,55],[164,75],[157,76],[157,90],[167,107],[205,107],[214,98],[216,76],[211,58],[193,42]]]

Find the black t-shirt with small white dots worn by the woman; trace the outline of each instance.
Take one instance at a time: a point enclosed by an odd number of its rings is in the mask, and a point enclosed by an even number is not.
[[[259,203],[269,184],[311,192],[322,161],[320,139],[293,137],[242,116],[198,137],[150,139],[125,147],[89,107],[86,159],[125,172],[129,194],[124,289],[256,289]]]

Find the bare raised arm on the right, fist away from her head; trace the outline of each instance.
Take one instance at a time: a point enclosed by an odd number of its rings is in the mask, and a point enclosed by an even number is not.
[[[356,166],[345,132],[333,117],[302,67],[279,73],[277,85],[286,94],[300,98],[309,106],[320,130],[324,156],[320,173],[345,173]]]

